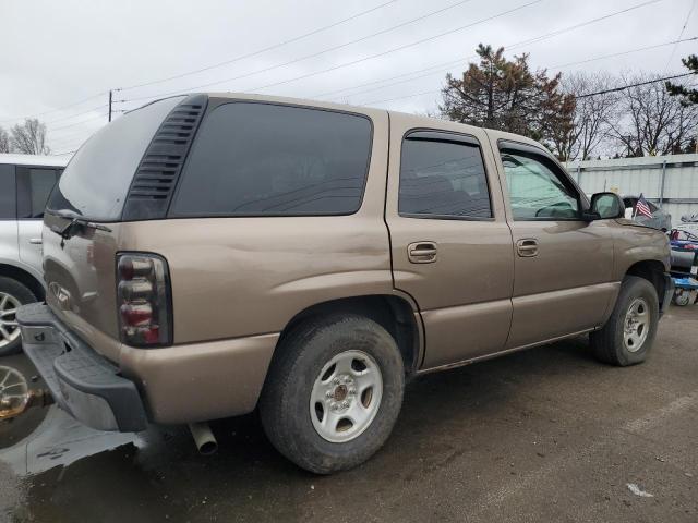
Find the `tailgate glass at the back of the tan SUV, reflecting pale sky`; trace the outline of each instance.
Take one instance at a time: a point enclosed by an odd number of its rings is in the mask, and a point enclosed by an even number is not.
[[[121,217],[131,180],[163,120],[183,97],[124,114],[95,133],[70,161],[47,207],[96,221]]]

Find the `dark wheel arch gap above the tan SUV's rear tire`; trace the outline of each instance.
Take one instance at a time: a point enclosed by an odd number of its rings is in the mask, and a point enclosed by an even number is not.
[[[416,311],[406,299],[392,294],[341,297],[311,305],[293,316],[284,327],[277,349],[298,325],[311,318],[341,314],[363,316],[381,325],[395,339],[402,355],[406,374],[417,370],[421,357],[421,335]],[[277,354],[276,350],[274,353]]]

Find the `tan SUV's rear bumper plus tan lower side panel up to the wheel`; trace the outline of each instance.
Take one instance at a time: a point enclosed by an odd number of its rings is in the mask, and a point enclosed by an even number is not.
[[[139,431],[246,414],[260,397],[278,333],[158,349],[120,344],[101,357],[41,303],[17,311],[24,352],[56,402],[100,430]]]

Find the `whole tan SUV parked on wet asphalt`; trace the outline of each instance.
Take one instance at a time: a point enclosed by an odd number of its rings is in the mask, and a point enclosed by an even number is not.
[[[387,439],[406,378],[590,333],[642,362],[664,234],[521,136],[266,96],[173,97],[74,156],[17,313],[56,401],[99,429],[258,408],[316,473]]]

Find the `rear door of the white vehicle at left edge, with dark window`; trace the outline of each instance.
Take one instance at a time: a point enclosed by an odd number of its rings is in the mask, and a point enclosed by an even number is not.
[[[20,258],[41,271],[44,208],[62,169],[17,166],[17,231]]]

